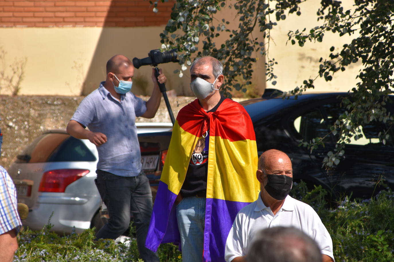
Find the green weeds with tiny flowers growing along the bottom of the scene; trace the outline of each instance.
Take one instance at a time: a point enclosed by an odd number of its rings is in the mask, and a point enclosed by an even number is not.
[[[294,183],[291,194],[319,214],[333,239],[336,262],[394,262],[394,193],[390,189],[368,200],[344,198],[335,208],[327,207],[327,192],[321,187],[308,190],[305,183]],[[63,236],[50,229],[48,222],[41,231],[20,232],[14,261],[142,261],[134,238],[126,246],[113,240],[93,241],[93,229]],[[162,262],[182,261],[178,246],[172,244],[160,245],[158,255]]]

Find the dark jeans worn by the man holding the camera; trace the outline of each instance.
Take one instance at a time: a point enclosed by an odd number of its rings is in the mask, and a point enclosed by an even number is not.
[[[110,216],[96,238],[119,237],[130,224],[131,212],[136,225],[139,256],[144,261],[159,261],[157,255],[145,247],[153,205],[148,178],[143,172],[132,177],[116,176],[103,170],[96,170],[96,173],[96,186]]]

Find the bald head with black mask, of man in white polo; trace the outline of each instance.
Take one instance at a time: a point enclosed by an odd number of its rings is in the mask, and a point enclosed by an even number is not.
[[[292,162],[286,153],[280,150],[267,150],[258,159],[256,177],[260,182],[262,197],[283,200],[292,187]]]

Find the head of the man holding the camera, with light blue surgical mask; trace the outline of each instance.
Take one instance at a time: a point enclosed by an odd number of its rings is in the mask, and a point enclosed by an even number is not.
[[[130,91],[134,76],[134,66],[130,59],[124,55],[115,55],[108,60],[106,70],[106,82],[111,82],[117,93]]]

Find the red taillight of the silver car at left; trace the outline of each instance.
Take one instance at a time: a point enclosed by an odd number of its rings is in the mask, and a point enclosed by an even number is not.
[[[56,169],[44,173],[38,191],[64,192],[72,182],[82,178],[89,170],[86,169]]]

